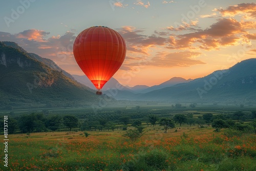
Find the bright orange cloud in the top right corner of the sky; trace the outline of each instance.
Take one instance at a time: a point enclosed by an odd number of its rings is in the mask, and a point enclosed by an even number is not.
[[[256,4],[255,3],[242,3],[238,5],[229,6],[226,9],[215,9],[219,11],[222,16],[235,16],[238,14],[248,14],[249,17],[256,18]]]

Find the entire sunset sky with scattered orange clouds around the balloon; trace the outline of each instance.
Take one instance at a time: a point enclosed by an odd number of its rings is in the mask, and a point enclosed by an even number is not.
[[[119,32],[127,52],[113,76],[125,86],[195,79],[256,57],[255,1],[20,0],[0,2],[0,41],[83,75],[76,36],[92,26]]]

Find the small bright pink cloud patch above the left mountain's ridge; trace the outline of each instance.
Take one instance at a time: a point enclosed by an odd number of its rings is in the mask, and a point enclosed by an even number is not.
[[[44,42],[46,39],[44,38],[50,34],[49,32],[45,32],[43,30],[29,29],[17,34],[17,38],[27,38],[28,40],[35,40],[39,42]]]

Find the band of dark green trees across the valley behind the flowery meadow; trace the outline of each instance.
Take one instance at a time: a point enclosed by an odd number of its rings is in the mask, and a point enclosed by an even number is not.
[[[118,118],[118,120],[109,121],[108,117],[98,118],[96,120],[89,119],[78,119],[74,115],[51,115],[47,116],[44,113],[32,113],[29,115],[22,115],[15,119],[9,117],[8,119],[8,131],[9,134],[14,134],[16,132],[20,133],[32,133],[32,132],[47,132],[47,131],[60,131],[63,128],[69,129],[71,131],[74,128],[79,128],[81,131],[114,131],[117,128],[122,130],[127,130],[127,125],[136,127],[139,133],[142,133],[142,122],[147,126],[156,126],[159,124],[163,126],[163,130],[167,132],[168,129],[174,128],[175,124],[182,125],[187,124],[198,125],[198,127],[212,126],[215,127],[216,131],[220,131],[222,128],[235,127],[238,130],[249,129],[250,126],[254,126],[254,132],[256,132],[256,121],[251,122],[251,125],[242,124],[241,121],[253,120],[256,118],[256,111],[251,111],[250,114],[245,114],[244,112],[238,111],[233,114],[223,115],[217,114],[213,115],[211,113],[203,114],[202,116],[194,116],[192,113],[188,114],[176,114],[172,117],[161,117],[157,115],[146,115],[142,119],[132,119],[130,116],[124,116]],[[255,123],[255,124],[254,124]],[[118,125],[118,126],[117,126]],[[2,131],[2,130],[1,130]]]

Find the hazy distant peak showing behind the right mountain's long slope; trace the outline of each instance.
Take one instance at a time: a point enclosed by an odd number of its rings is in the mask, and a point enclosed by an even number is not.
[[[174,86],[174,85],[179,84],[179,83],[189,82],[191,80],[192,79],[187,79],[186,80],[186,79],[181,78],[181,77],[173,77],[173,78],[170,78],[168,81],[165,81],[165,82],[163,82],[159,85],[147,88],[147,89],[141,91],[140,93],[147,93],[147,92],[151,92],[151,91],[154,91],[154,90],[159,90],[159,89],[162,89],[162,88]]]

